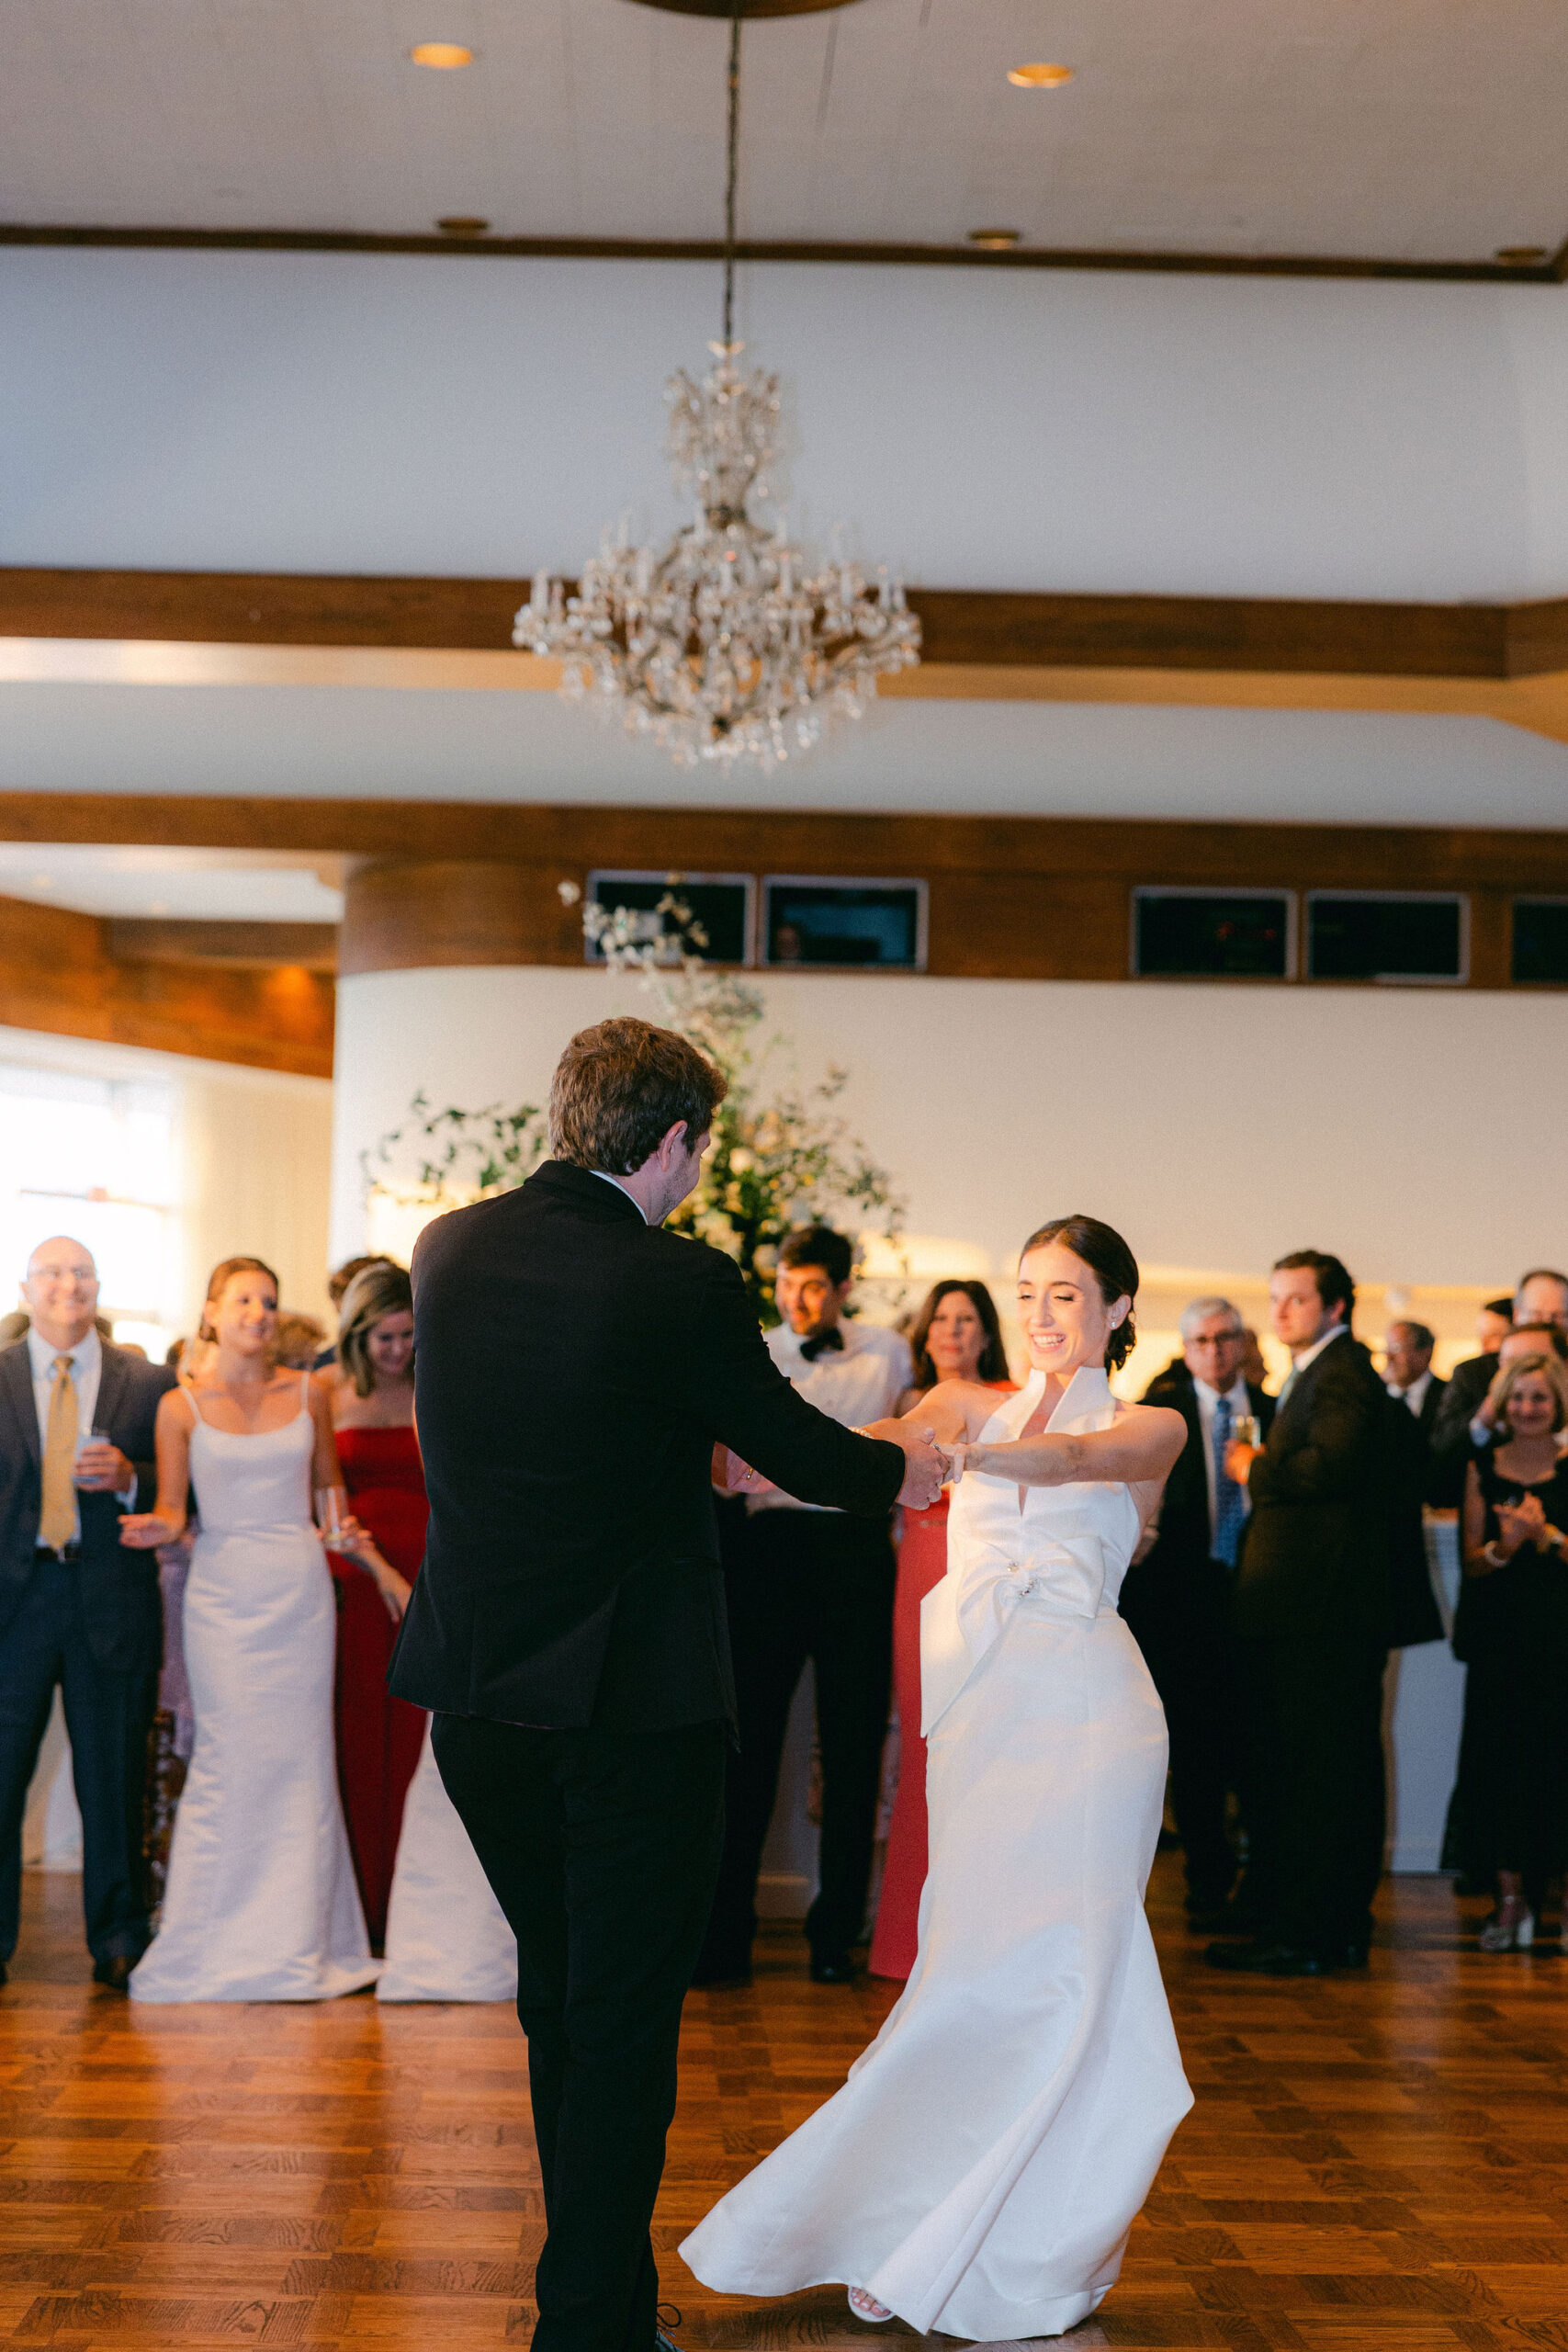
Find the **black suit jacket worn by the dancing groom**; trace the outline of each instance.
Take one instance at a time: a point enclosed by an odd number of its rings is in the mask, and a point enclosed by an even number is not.
[[[548,1160],[414,1251],[430,1534],[388,1682],[447,1715],[733,1719],[712,1442],[804,1503],[886,1512],[898,1446],[827,1421],[738,1268]]]

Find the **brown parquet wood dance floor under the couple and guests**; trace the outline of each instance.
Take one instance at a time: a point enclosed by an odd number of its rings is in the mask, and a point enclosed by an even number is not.
[[[543,2234],[505,2009],[139,2011],[94,1990],[75,1879],[28,1875],[0,1992],[0,2345],[501,2347]],[[1197,2091],[1121,2284],[1074,2347],[1568,2352],[1568,1964],[1474,1950],[1394,1882],[1371,1978],[1215,1978],[1161,1858],[1154,1919]],[[769,1933],[693,1994],[658,2209],[691,2352],[867,2347],[839,2288],[708,2296],[675,2246],[837,2086],[891,1987],[813,1987]],[[931,2338],[931,2345],[945,2345]]]

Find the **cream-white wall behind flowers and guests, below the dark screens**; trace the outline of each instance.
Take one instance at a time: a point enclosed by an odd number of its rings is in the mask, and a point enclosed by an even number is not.
[[[910,1228],[1006,1270],[1091,1209],[1173,1268],[1335,1249],[1366,1282],[1497,1284],[1568,1251],[1568,1004],[1458,990],[769,976],[799,1073],[849,1117]],[[331,1256],[364,1232],[357,1152],[411,1094],[541,1103],[571,1035],[646,1000],[599,971],[393,971],[339,988]],[[1502,1105],[1530,1103],[1530,1145]]]

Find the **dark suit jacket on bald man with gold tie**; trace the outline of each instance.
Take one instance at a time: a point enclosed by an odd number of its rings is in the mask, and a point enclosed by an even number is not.
[[[94,1423],[108,1430],[136,1465],[132,1510],[150,1510],[158,1494],[153,1423],[158,1399],[174,1388],[169,1364],[143,1364],[122,1348],[103,1348]],[[38,1512],[42,1510],[42,1446],[33,1404],[33,1359],[26,1338],[0,1348],[0,1639],[16,1616],[28,1578],[38,1573]],[[120,1543],[115,1494],[80,1494],[82,1604],[87,1639],[99,1665],[122,1675],[155,1675],[162,1658],[162,1599],[158,1555],[127,1552]]]

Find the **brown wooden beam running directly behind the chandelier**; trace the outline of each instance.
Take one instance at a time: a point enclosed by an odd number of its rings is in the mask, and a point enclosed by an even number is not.
[[[505,652],[527,593],[527,579],[9,567],[0,637]],[[1458,680],[1568,670],[1561,597],[1382,604],[914,588],[910,604],[931,666]]]

